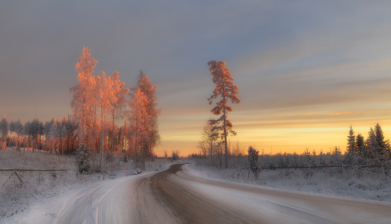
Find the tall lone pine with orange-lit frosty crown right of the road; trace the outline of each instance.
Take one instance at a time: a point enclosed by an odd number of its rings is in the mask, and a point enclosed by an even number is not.
[[[217,97],[221,96],[221,100],[217,102],[216,107],[214,107],[211,112],[215,115],[222,116],[217,120],[212,120],[214,124],[220,124],[217,129],[222,130],[224,133],[224,144],[225,144],[225,167],[228,168],[228,147],[227,147],[227,132],[230,132],[232,135],[236,135],[236,132],[232,130],[232,123],[227,119],[228,112],[232,111],[232,108],[227,106],[228,100],[231,100],[231,103],[240,103],[238,94],[238,87],[233,85],[233,78],[231,77],[230,70],[225,67],[224,61],[212,60],[208,62],[210,66],[209,70],[212,72],[213,83],[216,85],[213,90],[213,94],[208,98],[209,104],[212,105],[212,101]]]

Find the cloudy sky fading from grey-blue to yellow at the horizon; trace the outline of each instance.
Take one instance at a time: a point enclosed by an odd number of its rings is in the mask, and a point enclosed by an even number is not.
[[[349,126],[391,136],[389,1],[2,1],[0,114],[22,123],[72,114],[83,46],[95,75],[140,69],[157,85],[161,145],[197,152],[224,60],[239,88],[231,146],[264,153],[346,149]],[[215,101],[217,102],[217,101]],[[123,124],[120,121],[119,124]]]

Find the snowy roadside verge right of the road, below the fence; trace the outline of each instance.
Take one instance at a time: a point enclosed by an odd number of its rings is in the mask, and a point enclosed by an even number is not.
[[[310,194],[346,197],[353,199],[368,199],[391,203],[391,184],[381,181],[360,181],[341,180],[338,178],[314,177],[292,178],[285,180],[255,180],[253,178],[232,178],[230,177],[235,169],[211,169],[210,167],[199,167],[195,164],[185,165],[190,174],[201,178],[217,181],[229,181],[246,183],[262,187],[305,192]],[[251,174],[251,173],[250,173]]]

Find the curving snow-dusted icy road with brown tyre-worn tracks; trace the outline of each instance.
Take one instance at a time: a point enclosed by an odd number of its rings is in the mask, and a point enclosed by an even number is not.
[[[391,203],[206,180],[183,165],[90,185],[36,223],[391,223]]]

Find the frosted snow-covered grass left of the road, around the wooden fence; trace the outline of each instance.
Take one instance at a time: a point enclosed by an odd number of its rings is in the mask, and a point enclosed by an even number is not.
[[[91,161],[90,161],[91,162]],[[98,161],[99,162],[99,161]],[[98,164],[95,160],[95,165]],[[165,168],[166,164],[172,164],[170,160],[155,159],[145,163],[146,171],[157,171]],[[92,163],[91,163],[92,164]],[[111,165],[108,163],[108,166]],[[120,162],[120,156],[116,156],[113,168],[108,167],[108,172],[124,170],[126,168],[135,169],[135,164],[129,160],[127,163]],[[102,174],[75,175],[75,156],[56,156],[46,152],[23,152],[16,151],[13,148],[0,150],[0,168],[16,169],[65,169],[72,172],[41,172],[41,179],[38,183],[38,172],[16,173],[22,178],[20,183],[16,178],[16,184],[13,180],[7,181],[4,187],[0,186],[0,223],[14,214],[26,210],[32,203],[43,203],[50,197],[62,194],[72,188],[78,188],[83,185],[102,181],[98,176]],[[0,171],[2,172],[2,171]],[[13,178],[12,178],[13,179]]]

